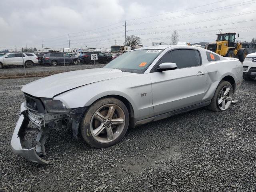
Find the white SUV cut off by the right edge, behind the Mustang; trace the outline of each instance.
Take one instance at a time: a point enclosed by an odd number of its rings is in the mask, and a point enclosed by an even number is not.
[[[256,78],[256,53],[246,56],[243,62],[243,68],[244,80],[254,80]]]

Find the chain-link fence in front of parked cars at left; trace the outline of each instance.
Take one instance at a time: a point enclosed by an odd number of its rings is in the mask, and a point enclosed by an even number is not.
[[[92,60],[90,54],[93,52],[94,50],[65,52],[64,49],[48,52],[24,52],[23,49],[21,52],[0,52],[0,79],[44,77],[74,70],[102,68],[112,60],[111,54],[101,52],[95,54],[98,54],[98,58],[106,59]]]

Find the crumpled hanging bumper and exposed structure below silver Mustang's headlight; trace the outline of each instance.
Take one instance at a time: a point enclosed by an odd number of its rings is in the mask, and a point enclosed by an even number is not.
[[[77,137],[79,122],[85,109],[71,109],[68,114],[37,114],[28,110],[22,103],[20,118],[12,135],[12,151],[32,162],[48,164],[44,144],[50,129],[62,126],[61,122],[65,119],[68,128],[71,125],[73,134]],[[29,122],[36,126],[29,128]],[[30,135],[30,132],[36,132],[36,135],[32,139],[26,139],[27,132],[28,135]]]

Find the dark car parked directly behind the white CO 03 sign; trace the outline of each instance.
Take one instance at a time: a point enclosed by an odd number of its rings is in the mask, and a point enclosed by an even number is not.
[[[91,54],[98,55],[98,60],[95,60],[95,62],[97,62],[97,63],[108,63],[108,62],[112,61],[112,56],[105,55],[102,52],[94,52],[94,53],[87,52],[87,53],[82,54],[79,57],[78,62],[83,63],[83,64],[93,63],[93,61],[91,60]]]

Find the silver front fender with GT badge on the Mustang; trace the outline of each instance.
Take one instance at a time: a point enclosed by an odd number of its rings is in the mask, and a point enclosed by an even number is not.
[[[142,96],[143,93],[146,95]],[[149,74],[138,74],[132,78],[128,76],[88,84],[64,92],[54,99],[62,101],[67,108],[78,108],[90,106],[96,100],[110,95],[126,98],[132,105],[136,120],[148,118],[154,114]]]

